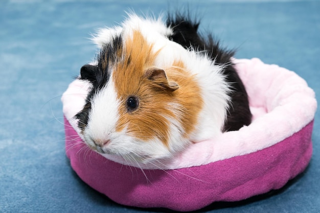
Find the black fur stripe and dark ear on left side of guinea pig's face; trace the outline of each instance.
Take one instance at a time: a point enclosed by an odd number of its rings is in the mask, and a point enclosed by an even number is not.
[[[75,119],[78,120],[78,128],[82,131],[88,124],[92,97],[108,83],[112,65],[117,62],[117,53],[122,51],[122,48],[122,36],[116,36],[109,43],[102,46],[97,56],[98,65],[86,64],[81,67],[79,79],[89,81],[92,85],[86,98],[85,106],[75,115]]]

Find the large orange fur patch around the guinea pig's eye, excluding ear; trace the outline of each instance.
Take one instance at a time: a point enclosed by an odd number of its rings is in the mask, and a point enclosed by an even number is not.
[[[199,86],[182,62],[175,62],[171,67],[159,67],[165,70],[168,78],[161,81],[174,81],[178,89],[161,88],[159,82],[148,79],[146,72],[154,66],[156,57],[152,44],[148,44],[139,31],[134,31],[132,38],[125,41],[122,59],[112,74],[121,103],[116,131],[127,128],[127,132],[136,138],[147,141],[158,137],[168,146],[168,118],[179,121],[183,128],[181,132],[187,137],[195,129],[203,101]],[[131,96],[138,98],[139,107],[129,112],[126,101]]]

